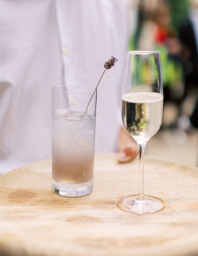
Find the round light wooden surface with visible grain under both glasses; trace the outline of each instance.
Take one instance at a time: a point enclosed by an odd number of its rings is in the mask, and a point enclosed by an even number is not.
[[[13,256],[196,256],[198,168],[146,157],[145,191],[166,208],[135,215],[117,200],[138,190],[138,161],[96,155],[94,191],[68,198],[51,191],[49,160],[0,177],[1,252]]]

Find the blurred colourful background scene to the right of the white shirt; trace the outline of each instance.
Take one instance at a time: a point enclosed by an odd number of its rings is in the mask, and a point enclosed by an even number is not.
[[[198,0],[131,0],[129,50],[161,53],[164,114],[147,154],[198,165]]]

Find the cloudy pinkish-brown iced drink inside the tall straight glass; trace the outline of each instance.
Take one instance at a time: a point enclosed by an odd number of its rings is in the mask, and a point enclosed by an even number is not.
[[[82,184],[93,179],[95,115],[58,109],[52,116],[52,179]]]

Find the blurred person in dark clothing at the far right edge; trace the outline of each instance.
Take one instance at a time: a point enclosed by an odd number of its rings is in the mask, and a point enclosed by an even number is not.
[[[188,130],[190,122],[194,127],[198,127],[198,0],[191,1],[189,16],[183,20],[179,26],[179,47],[177,52],[180,54],[184,70],[184,100],[190,98],[195,100],[192,114],[181,115],[179,123]],[[197,103],[194,96],[197,94]],[[190,120],[190,121],[189,121]],[[186,125],[185,125],[186,124]]]

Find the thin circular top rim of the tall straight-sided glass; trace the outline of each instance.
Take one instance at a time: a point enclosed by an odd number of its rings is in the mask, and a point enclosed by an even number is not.
[[[94,86],[77,86],[77,85],[71,85],[73,87],[73,89],[71,89],[71,87],[69,87],[69,85],[59,85],[59,86],[53,86],[51,87],[51,91],[52,92],[61,92],[61,93],[65,93],[65,94],[85,94],[85,93],[94,93],[96,91],[96,87]],[[63,91],[61,90],[61,88],[68,88],[68,90]],[[85,91],[75,91],[75,89],[80,88],[80,89],[87,89]],[[89,90],[90,89],[90,90]]]

